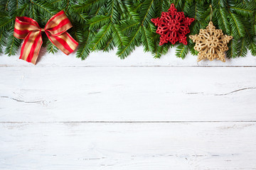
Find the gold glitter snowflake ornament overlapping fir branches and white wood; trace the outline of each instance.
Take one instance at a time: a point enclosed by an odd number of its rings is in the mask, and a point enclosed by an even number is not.
[[[233,36],[223,35],[222,30],[215,29],[210,21],[206,29],[200,29],[198,35],[189,35],[189,38],[196,42],[194,49],[198,51],[198,62],[206,58],[225,62],[225,51],[228,50],[228,42]]]

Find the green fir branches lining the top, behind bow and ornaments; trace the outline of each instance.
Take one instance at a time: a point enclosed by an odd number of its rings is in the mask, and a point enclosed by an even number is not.
[[[16,16],[33,18],[43,28],[51,16],[64,10],[73,24],[68,31],[80,44],[76,57],[85,60],[92,51],[108,52],[117,47],[117,55],[124,59],[142,45],[144,52],[159,58],[173,45],[159,46],[159,35],[150,20],[168,11],[172,3],[185,16],[195,18],[191,35],[206,28],[210,5],[213,6],[215,27],[234,37],[228,44],[227,57],[245,57],[248,50],[256,55],[256,0],[1,0],[0,54],[15,55],[21,45],[21,40],[13,35]],[[188,50],[197,54],[192,40],[187,40],[188,45],[177,44],[176,57],[183,59]],[[43,47],[48,52],[58,51],[45,34]]]

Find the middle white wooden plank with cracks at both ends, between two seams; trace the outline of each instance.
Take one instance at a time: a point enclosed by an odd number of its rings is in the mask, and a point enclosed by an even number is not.
[[[256,67],[1,67],[1,122],[255,121]]]

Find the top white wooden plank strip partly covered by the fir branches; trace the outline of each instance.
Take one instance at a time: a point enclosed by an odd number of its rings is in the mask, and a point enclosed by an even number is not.
[[[36,67],[48,67],[48,66],[256,66],[256,58],[252,57],[250,53],[247,57],[240,57],[236,59],[226,60],[225,63],[219,60],[210,62],[208,60],[196,62],[196,56],[188,54],[186,59],[181,60],[175,56],[175,48],[172,48],[170,52],[161,57],[161,59],[154,59],[150,52],[144,52],[142,47],[138,47],[132,55],[125,60],[120,60],[115,55],[117,50],[111,52],[92,52],[91,55],[85,60],[81,61],[75,57],[75,53],[69,56],[64,55],[62,52],[57,52],[55,55],[48,54],[46,49],[42,49],[38,64]],[[33,64],[29,64],[22,60],[18,60],[19,52],[16,56],[8,57],[3,55],[0,57],[0,67],[35,67]]]

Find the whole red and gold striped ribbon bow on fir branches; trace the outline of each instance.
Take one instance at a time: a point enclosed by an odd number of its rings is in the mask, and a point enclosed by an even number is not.
[[[26,16],[16,17],[14,36],[19,39],[24,39],[20,59],[36,64],[38,52],[43,42],[42,31],[46,33],[50,41],[53,42],[58,49],[62,50],[66,55],[69,55],[78,47],[78,42],[67,33],[67,30],[71,27],[72,24],[64,11],[60,11],[51,17],[44,29],[40,28],[38,23],[32,18]]]

